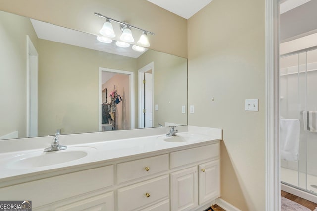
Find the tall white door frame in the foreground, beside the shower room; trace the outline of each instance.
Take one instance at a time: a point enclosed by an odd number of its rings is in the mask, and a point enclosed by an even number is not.
[[[265,202],[281,210],[279,153],[279,1],[265,0]]]

